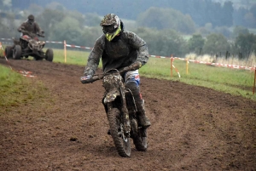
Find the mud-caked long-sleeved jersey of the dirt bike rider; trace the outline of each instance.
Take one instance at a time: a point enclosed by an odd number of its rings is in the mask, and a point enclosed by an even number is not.
[[[145,65],[148,62],[148,47],[142,38],[131,31],[122,31],[118,39],[111,42],[103,34],[90,52],[84,74],[93,75],[101,58],[103,71],[130,66],[136,60]]]

